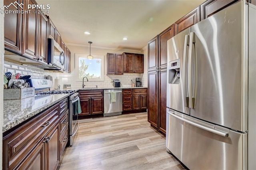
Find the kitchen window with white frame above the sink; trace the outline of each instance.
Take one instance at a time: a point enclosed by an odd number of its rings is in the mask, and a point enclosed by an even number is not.
[[[104,81],[104,56],[93,55],[93,59],[89,60],[88,55],[75,54],[77,80],[87,77],[89,81]]]

